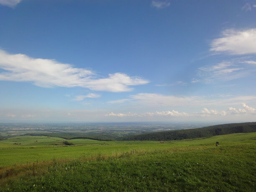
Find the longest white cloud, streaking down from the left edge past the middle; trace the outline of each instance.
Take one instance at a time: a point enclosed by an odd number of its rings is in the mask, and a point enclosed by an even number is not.
[[[74,68],[52,59],[33,59],[23,54],[8,54],[0,50],[0,80],[32,82],[39,87],[84,87],[96,91],[131,91],[131,85],[148,83],[139,77],[126,74],[109,74],[108,78],[97,79],[87,69]]]

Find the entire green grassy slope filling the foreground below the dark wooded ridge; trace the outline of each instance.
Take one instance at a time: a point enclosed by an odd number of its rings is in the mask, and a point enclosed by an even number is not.
[[[255,140],[256,133],[235,133],[164,143],[2,149],[0,162],[9,159],[9,166],[0,169],[0,189],[255,191]],[[15,154],[16,161],[31,163],[14,165]]]

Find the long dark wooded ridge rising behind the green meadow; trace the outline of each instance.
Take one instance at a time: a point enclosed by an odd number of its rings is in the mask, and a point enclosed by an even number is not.
[[[230,123],[222,125],[212,125],[203,128],[177,130],[177,131],[159,131],[154,133],[143,133],[120,138],[122,141],[165,141],[182,140],[192,138],[211,137],[226,135],[231,133],[251,133],[256,132],[256,122],[249,123]]]

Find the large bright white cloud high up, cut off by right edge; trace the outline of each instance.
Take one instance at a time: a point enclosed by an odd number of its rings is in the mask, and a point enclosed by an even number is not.
[[[227,29],[221,38],[214,39],[210,51],[226,52],[232,55],[256,54],[256,28],[243,31]]]

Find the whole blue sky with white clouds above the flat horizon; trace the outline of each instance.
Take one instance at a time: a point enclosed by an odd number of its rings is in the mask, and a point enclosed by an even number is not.
[[[255,120],[255,0],[0,0],[0,122]]]

